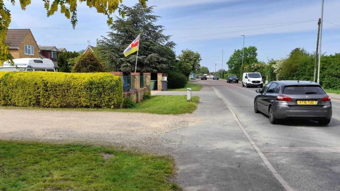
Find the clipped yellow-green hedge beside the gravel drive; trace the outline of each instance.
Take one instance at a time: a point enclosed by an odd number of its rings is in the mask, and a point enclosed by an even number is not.
[[[109,73],[0,72],[0,105],[115,108],[123,102],[119,76]]]

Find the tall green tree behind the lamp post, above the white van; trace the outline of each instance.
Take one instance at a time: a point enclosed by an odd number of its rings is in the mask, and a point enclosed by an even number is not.
[[[237,49],[229,57],[229,60],[227,61],[229,73],[242,74],[243,71],[246,71],[247,69],[250,68],[251,64],[258,63],[257,48],[255,46],[244,47],[243,66],[242,66],[242,53],[243,53],[242,49]]]

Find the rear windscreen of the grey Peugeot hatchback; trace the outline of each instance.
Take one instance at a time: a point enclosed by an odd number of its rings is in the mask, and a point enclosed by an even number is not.
[[[284,94],[325,94],[320,86],[285,86]]]

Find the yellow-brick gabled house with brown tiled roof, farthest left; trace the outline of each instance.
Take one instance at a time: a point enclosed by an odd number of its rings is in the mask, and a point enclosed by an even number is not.
[[[8,29],[5,43],[13,58],[39,58],[39,47],[30,29]]]

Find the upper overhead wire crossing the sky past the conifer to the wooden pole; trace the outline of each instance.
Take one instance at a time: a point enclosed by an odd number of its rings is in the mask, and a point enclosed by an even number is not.
[[[307,21],[296,21],[296,22],[281,22],[281,23],[271,23],[271,24],[254,24],[254,25],[242,25],[242,26],[226,26],[226,27],[205,27],[205,28],[180,28],[180,29],[164,29],[164,30],[198,30],[198,29],[223,29],[223,28],[239,28],[239,27],[256,27],[256,26],[266,26],[266,25],[275,25],[275,24],[294,24],[301,22],[310,22],[317,20],[307,20]],[[10,26],[12,27],[12,26]],[[58,29],[58,30],[102,30],[109,31],[111,29],[72,29],[72,28],[50,28],[50,27],[16,27],[13,28],[31,28],[31,29]]]

